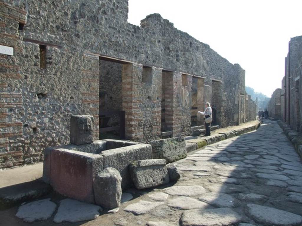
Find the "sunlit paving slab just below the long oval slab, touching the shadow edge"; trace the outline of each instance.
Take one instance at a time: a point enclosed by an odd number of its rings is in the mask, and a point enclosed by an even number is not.
[[[168,206],[176,209],[200,209],[208,208],[209,204],[190,197],[180,196],[176,199],[170,199]]]

